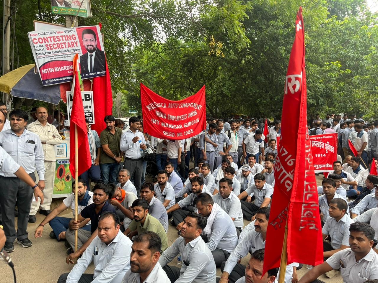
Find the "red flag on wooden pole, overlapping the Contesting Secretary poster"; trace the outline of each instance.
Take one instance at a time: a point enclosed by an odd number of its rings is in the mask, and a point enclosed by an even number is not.
[[[87,171],[91,165],[91,154],[89,152],[87,125],[85,124],[83,101],[81,97],[81,77],[79,67],[79,55],[76,54],[73,59],[73,82],[71,88],[72,111],[70,119],[70,171],[75,176],[75,126],[77,127],[77,148],[78,148],[78,168],[77,175]]]

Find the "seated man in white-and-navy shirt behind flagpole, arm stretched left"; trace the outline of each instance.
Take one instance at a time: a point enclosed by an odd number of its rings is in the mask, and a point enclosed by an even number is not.
[[[51,211],[45,219],[42,220],[40,225],[34,231],[34,237],[42,237],[43,227],[48,223],[53,231],[50,232],[50,238],[56,238],[58,241],[64,240],[66,238],[66,231],[69,229],[69,223],[71,218],[57,216],[65,211],[67,208],[71,207],[73,217],[75,216],[75,183],[72,183],[72,194],[66,197],[60,205]],[[87,191],[87,185],[82,179],[77,180],[77,213],[80,212],[93,203],[93,192]],[[81,228],[86,231],[91,231],[91,222],[87,218],[80,223]]]

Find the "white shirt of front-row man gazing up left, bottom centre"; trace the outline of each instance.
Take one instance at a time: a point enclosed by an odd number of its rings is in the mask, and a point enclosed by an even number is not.
[[[160,265],[164,267],[179,253],[181,253],[181,259],[187,261],[189,266],[184,263],[181,265],[180,278],[175,283],[215,283],[217,281],[214,258],[201,236],[187,244],[183,237],[178,237],[160,256]]]

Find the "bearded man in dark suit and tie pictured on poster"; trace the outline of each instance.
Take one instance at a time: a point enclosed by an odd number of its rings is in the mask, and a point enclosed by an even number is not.
[[[84,29],[81,37],[87,49],[87,53],[80,56],[81,75],[85,77],[91,73],[105,72],[105,53],[97,48],[96,33],[92,29]]]

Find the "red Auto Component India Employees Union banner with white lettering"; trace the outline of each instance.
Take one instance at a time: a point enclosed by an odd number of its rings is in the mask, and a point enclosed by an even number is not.
[[[141,83],[144,131],[156,138],[183,140],[206,128],[205,86],[183,100],[168,100]]]

